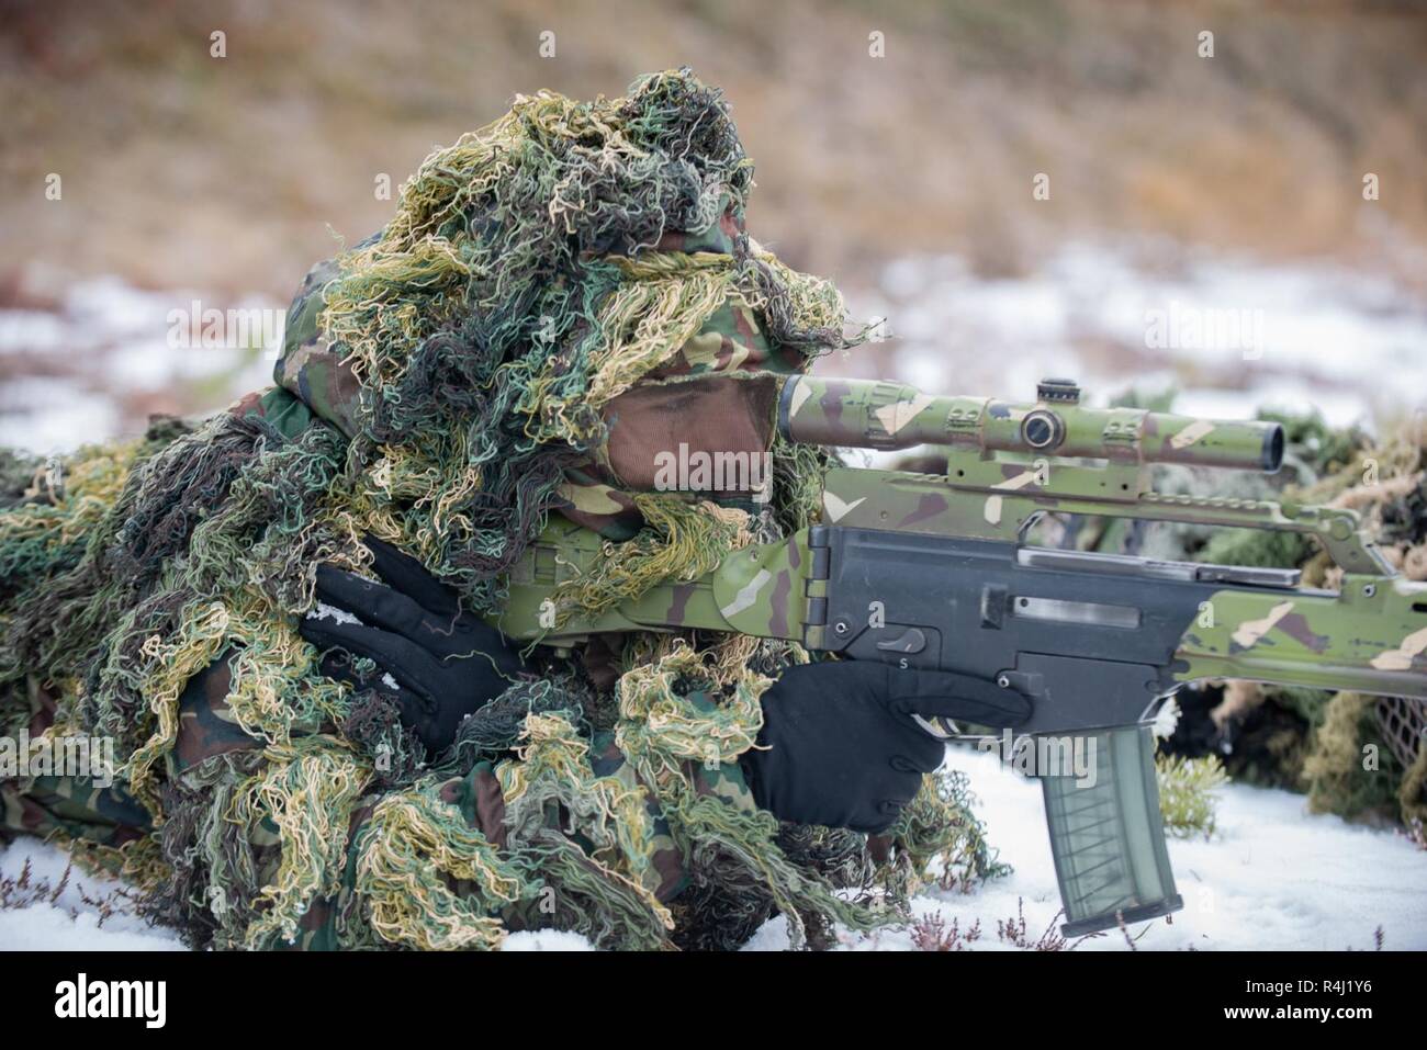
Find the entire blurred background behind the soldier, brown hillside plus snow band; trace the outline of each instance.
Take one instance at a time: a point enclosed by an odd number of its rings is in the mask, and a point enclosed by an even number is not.
[[[166,314],[285,307],[391,214],[384,175],[515,93],[684,63],[756,161],[755,237],[899,337],[833,371],[1421,407],[1427,4],[0,0],[0,444],[263,385],[260,347],[170,348]],[[1154,345],[1174,310],[1257,311],[1261,338]]]

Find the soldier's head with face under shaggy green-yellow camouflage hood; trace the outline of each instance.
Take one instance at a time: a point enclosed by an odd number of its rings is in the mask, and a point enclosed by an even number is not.
[[[778,377],[842,345],[836,290],[748,237],[751,190],[688,70],[518,96],[314,275],[277,379],[352,439],[367,498],[499,571],[549,511],[661,488],[661,454],[766,452]]]

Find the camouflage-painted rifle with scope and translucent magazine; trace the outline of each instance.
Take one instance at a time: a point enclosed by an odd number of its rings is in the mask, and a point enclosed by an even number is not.
[[[1220,678],[1424,699],[1427,583],[1398,575],[1351,511],[1150,488],[1160,462],[1277,471],[1277,424],[1085,408],[1076,385],[1059,379],[1037,397],[1010,404],[793,377],[778,408],[785,437],[938,445],[946,474],[831,469],[822,524],[558,626],[552,595],[601,556],[602,541],[552,525],[512,574],[499,625],[552,645],[606,631],[733,631],[1017,689],[1035,705],[1022,732],[1095,748],[1092,786],[1043,776],[1066,933],[1167,914],[1182,900],[1159,815],[1149,730],[1157,703]],[[1343,582],[1316,591],[1289,569],[1027,545],[1046,512],[1309,534]]]

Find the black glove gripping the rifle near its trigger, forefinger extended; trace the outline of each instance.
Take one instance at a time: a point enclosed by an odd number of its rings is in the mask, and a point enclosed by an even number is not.
[[[763,693],[759,746],[739,762],[753,800],[781,820],[886,830],[946,758],[912,715],[1005,728],[1030,700],[993,682],[870,661],[795,665]]]

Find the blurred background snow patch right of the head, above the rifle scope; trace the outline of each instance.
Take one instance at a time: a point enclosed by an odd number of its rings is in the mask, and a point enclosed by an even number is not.
[[[1339,265],[1080,243],[1015,277],[958,255],[902,260],[849,304],[886,320],[890,357],[835,355],[821,372],[1012,401],[1035,399],[1046,375],[1077,378],[1092,404],[1176,385],[1180,412],[1316,407],[1333,425],[1427,408],[1427,302]]]

